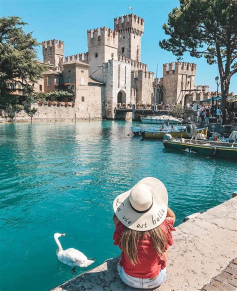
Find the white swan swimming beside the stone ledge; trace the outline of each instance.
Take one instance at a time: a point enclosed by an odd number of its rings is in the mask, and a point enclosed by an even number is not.
[[[58,237],[65,236],[65,233],[54,233],[53,237],[58,246],[56,251],[57,258],[72,267],[87,267],[91,263],[94,262],[92,259],[87,259],[87,257],[83,254],[83,252],[75,249],[75,248],[67,248],[65,250],[62,249],[61,244],[58,240]]]

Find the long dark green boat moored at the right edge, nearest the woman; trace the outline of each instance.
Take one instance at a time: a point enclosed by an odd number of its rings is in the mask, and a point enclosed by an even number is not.
[[[219,142],[196,139],[170,139],[163,140],[163,145],[168,149],[185,150],[205,156],[237,159],[237,143]]]

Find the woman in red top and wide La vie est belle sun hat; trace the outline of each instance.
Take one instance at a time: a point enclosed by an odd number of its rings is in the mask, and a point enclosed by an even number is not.
[[[167,248],[173,244],[171,230],[175,230],[164,184],[153,177],[143,178],[115,198],[113,209],[121,280],[133,288],[158,287],[166,279]]]

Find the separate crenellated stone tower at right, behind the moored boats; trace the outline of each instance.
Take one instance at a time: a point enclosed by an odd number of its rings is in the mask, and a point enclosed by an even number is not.
[[[163,64],[163,100],[182,105],[195,100],[196,64],[170,62]]]

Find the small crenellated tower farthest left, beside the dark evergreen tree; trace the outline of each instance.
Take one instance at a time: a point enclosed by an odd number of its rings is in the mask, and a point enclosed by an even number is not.
[[[56,39],[42,41],[43,61],[60,67],[60,58],[64,56],[64,42]]]

